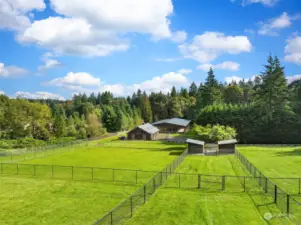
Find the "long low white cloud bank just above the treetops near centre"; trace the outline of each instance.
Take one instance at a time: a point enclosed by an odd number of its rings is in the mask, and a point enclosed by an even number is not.
[[[185,74],[190,73],[189,69],[181,69],[178,72],[169,72],[161,76],[153,77],[150,80],[136,83],[133,85],[125,84],[107,84],[101,82],[100,78],[96,78],[91,74],[82,73],[68,73],[65,77],[59,77],[44,85],[61,87],[67,90],[71,90],[76,93],[92,93],[92,92],[104,92],[110,91],[116,96],[131,95],[133,92],[141,89],[147,93],[170,92],[173,86],[175,87],[188,87],[190,82],[185,77]]]

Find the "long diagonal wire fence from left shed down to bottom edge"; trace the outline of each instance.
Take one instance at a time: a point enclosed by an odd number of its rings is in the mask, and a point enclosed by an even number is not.
[[[184,158],[187,156],[187,153],[188,150],[185,150],[165,169],[157,172],[157,174],[151,180],[149,180],[129,198],[116,206],[113,210],[104,215],[104,217],[96,221],[94,225],[114,225],[119,224],[125,219],[131,218],[135,210],[139,206],[145,204],[148,198],[155,193],[156,189],[159,188],[169,178],[169,176],[173,174],[176,168],[183,162]]]

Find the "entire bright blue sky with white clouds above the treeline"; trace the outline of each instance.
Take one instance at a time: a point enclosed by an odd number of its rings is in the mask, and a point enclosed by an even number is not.
[[[301,77],[299,0],[0,0],[0,92],[68,99],[252,79],[269,53]]]

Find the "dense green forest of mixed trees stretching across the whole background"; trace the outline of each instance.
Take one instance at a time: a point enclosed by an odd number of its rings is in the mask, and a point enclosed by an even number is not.
[[[287,83],[284,67],[270,55],[254,80],[221,83],[210,69],[204,83],[170,93],[83,93],[67,101],[0,95],[0,143],[97,137],[172,117],[232,127],[241,143],[300,143],[300,100],[301,81]]]

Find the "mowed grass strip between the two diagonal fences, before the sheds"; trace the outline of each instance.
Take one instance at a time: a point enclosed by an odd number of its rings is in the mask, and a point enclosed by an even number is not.
[[[172,175],[125,224],[294,224],[286,217],[278,217],[280,210],[253,179],[247,181],[246,192],[238,178],[226,178],[226,187],[222,191],[221,182],[218,181],[220,176],[206,178],[207,182],[217,184],[202,182],[201,188],[197,188],[197,175],[193,177],[192,174],[246,176],[244,168],[233,155],[188,156],[177,172],[191,173],[191,177],[185,180],[185,174]],[[181,188],[178,187],[179,176],[183,182]],[[274,217],[266,221],[265,213],[271,213]]]

